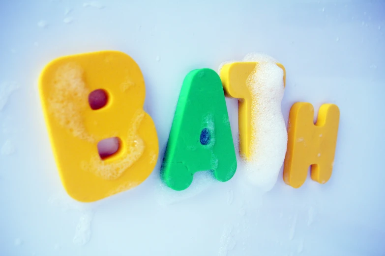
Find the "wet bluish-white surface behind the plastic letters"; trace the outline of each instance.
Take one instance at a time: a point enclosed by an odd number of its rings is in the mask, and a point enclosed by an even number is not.
[[[385,2],[288,2],[0,0],[0,86],[19,86],[0,112],[0,147],[16,149],[0,155],[0,255],[385,255]],[[287,71],[285,121],[297,101],[340,107],[331,179],[293,189],[281,173],[260,195],[238,163],[229,182],[201,174],[178,194],[161,188],[158,161],[133,190],[73,202],[37,80],[56,57],[98,50],[124,51],[141,67],[160,158],[189,71],[251,51],[275,57]],[[236,141],[237,102],[227,103]]]

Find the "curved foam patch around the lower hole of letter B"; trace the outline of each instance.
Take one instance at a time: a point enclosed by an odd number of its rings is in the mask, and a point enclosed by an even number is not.
[[[94,155],[89,162],[82,163],[83,169],[92,172],[102,179],[118,179],[145,151],[145,143],[137,133],[144,116],[145,112],[143,109],[140,109],[135,113],[132,127],[128,131],[127,137],[123,142],[125,144],[125,149],[122,150],[120,154],[118,152],[119,159],[114,159],[113,162],[110,162],[108,160],[102,160],[99,155]]]

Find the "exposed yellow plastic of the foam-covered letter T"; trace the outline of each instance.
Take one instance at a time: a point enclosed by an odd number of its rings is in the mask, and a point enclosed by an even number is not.
[[[251,141],[253,140],[253,127],[251,125],[252,97],[246,85],[247,77],[255,69],[257,62],[233,62],[223,65],[220,71],[222,85],[226,97],[238,99],[238,129],[239,129],[239,153],[250,160]],[[285,85],[285,67],[277,63],[283,70],[283,81]]]

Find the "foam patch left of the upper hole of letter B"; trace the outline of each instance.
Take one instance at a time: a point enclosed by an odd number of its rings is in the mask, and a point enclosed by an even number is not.
[[[49,111],[73,136],[95,142],[95,138],[87,132],[82,116],[82,112],[89,107],[90,93],[83,73],[82,67],[75,63],[67,63],[58,68],[48,99]]]

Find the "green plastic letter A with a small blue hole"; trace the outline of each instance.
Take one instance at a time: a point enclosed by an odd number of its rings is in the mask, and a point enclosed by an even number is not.
[[[194,173],[212,170],[219,181],[231,179],[237,158],[222,82],[211,69],[184,78],[166,153],[162,179],[174,190],[186,189]]]

